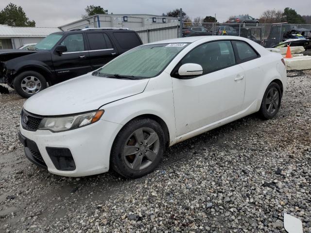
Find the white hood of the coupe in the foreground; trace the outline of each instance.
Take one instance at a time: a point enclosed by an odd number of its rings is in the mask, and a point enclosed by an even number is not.
[[[143,92],[148,81],[98,77],[88,73],[48,87],[26,100],[23,107],[41,116],[96,110],[104,104]]]

